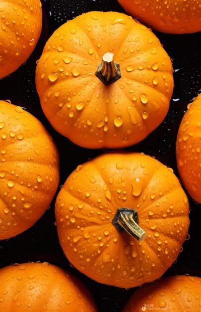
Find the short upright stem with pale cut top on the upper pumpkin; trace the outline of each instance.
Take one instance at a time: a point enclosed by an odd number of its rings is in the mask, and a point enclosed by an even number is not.
[[[107,86],[121,77],[120,66],[113,60],[114,54],[107,52],[103,55],[102,62],[98,66],[96,76]]]

